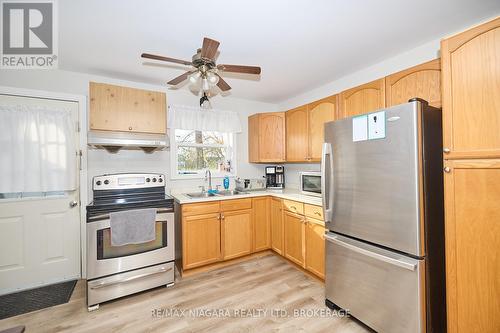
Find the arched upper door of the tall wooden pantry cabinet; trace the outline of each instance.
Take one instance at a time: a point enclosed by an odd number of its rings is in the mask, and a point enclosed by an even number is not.
[[[445,158],[500,157],[500,18],[441,42]]]

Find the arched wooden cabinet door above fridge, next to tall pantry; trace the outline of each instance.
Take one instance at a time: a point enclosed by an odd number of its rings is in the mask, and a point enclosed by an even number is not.
[[[441,62],[435,59],[385,78],[386,106],[407,103],[418,97],[441,107]]]

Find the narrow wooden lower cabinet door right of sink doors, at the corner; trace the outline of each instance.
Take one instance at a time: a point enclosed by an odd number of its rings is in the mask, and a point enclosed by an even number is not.
[[[253,250],[263,251],[271,247],[271,224],[268,197],[253,198]]]

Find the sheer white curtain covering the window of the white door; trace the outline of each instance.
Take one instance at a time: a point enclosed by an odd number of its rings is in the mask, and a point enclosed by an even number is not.
[[[0,105],[0,193],[76,189],[71,111]]]

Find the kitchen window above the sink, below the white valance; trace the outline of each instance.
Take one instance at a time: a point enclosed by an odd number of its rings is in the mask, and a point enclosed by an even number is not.
[[[183,129],[172,132],[172,178],[203,178],[207,169],[213,177],[235,174],[232,133]]]

